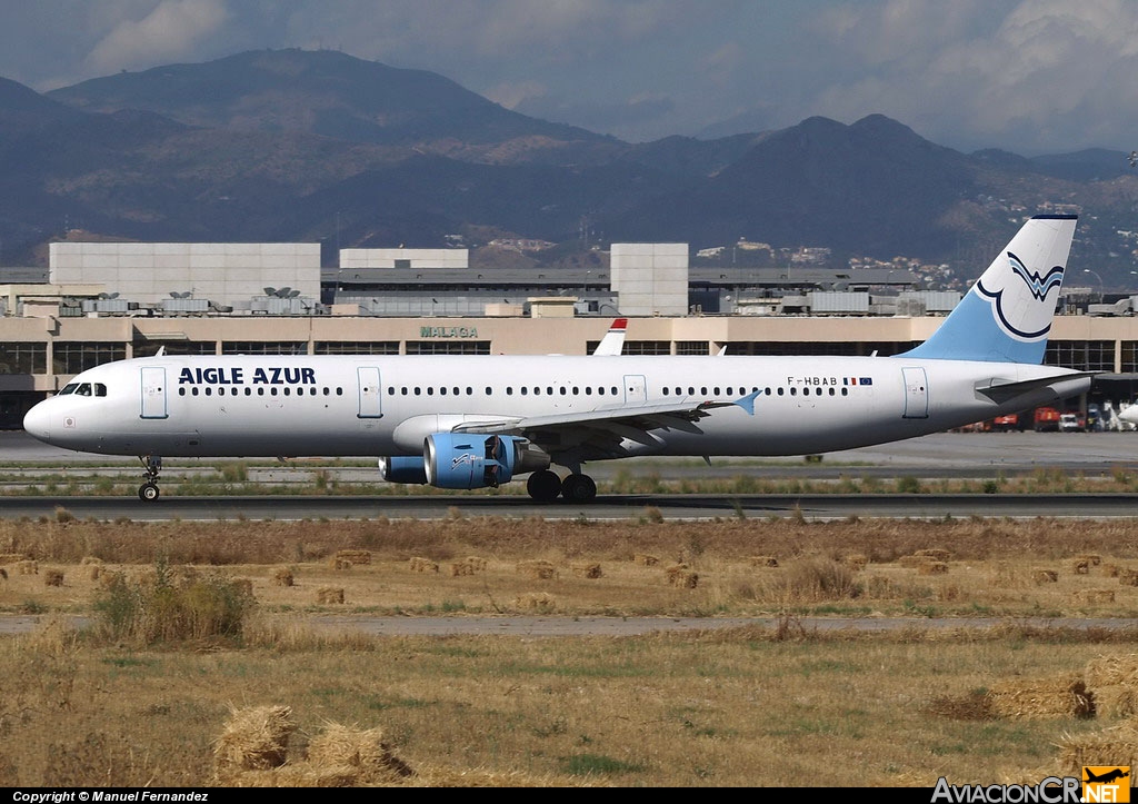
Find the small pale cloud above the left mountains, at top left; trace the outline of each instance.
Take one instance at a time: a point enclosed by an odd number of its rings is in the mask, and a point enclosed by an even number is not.
[[[141,18],[114,24],[85,63],[93,71],[112,73],[187,58],[229,17],[225,0],[162,0]]]

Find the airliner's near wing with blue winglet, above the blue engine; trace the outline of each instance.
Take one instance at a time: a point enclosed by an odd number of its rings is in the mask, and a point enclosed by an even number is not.
[[[528,438],[546,451],[582,450],[589,459],[619,457],[620,442],[625,438],[648,446],[660,445],[655,430],[682,430],[699,434],[695,425],[717,408],[739,405],[753,415],[754,397],[759,392],[739,400],[691,400],[675,402],[646,402],[634,405],[613,405],[576,413],[551,413],[503,418],[500,421],[478,421],[455,427],[459,433],[487,435],[518,435]]]

